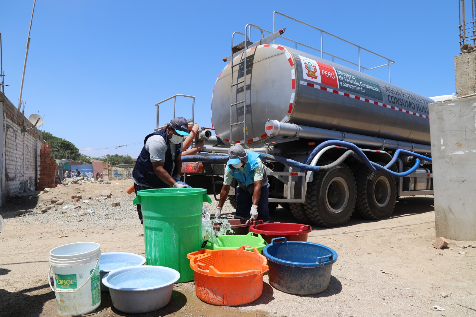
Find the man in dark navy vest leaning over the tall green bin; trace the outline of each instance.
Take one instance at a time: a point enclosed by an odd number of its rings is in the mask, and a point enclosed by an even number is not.
[[[185,136],[190,134],[187,120],[182,117],[170,120],[165,128],[146,136],[144,147],[132,171],[136,195],[142,189],[188,187],[177,183],[182,170],[180,155]],[[137,213],[142,222],[140,204],[137,205]]]

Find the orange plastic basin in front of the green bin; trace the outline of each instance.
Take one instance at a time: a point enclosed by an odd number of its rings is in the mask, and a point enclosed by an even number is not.
[[[197,297],[218,306],[238,306],[258,299],[263,292],[263,274],[269,267],[266,258],[252,249],[242,246],[189,253]]]

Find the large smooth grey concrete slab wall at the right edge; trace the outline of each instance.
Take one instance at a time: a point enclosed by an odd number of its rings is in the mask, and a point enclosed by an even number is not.
[[[428,108],[436,237],[475,241],[476,97],[432,103]]]

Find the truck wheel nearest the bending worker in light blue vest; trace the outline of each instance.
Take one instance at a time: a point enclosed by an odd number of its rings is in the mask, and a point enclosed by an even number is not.
[[[356,183],[350,168],[341,164],[323,172],[307,188],[307,216],[317,225],[342,226],[356,204]]]

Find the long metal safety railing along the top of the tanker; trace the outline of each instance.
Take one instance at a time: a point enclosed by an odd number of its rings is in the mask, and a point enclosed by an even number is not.
[[[305,25],[305,26],[307,26],[307,27],[309,27],[309,28],[311,28],[311,29],[314,29],[314,30],[317,30],[317,31],[320,32],[320,49],[317,49],[317,48],[314,48],[314,47],[305,45],[305,44],[300,43],[300,42],[295,41],[295,40],[291,40],[291,39],[285,38],[285,37],[283,37],[283,36],[280,37],[280,38],[283,39],[283,40],[288,40],[288,41],[293,42],[293,43],[294,43],[294,48],[295,48],[296,50],[297,50],[297,45],[304,46],[304,47],[306,47],[306,48],[308,48],[308,49],[311,49],[311,50],[316,50],[317,52],[320,53],[322,59],[324,58],[324,55],[326,55],[326,56],[330,56],[330,57],[332,58],[332,61],[333,61],[333,62],[335,61],[335,59],[339,59],[339,60],[345,61],[345,62],[347,62],[347,63],[349,63],[349,64],[351,64],[351,65],[357,66],[357,67],[358,67],[358,71],[360,71],[360,72],[365,72],[365,70],[372,70],[372,69],[377,69],[377,68],[381,68],[381,67],[388,66],[388,82],[390,82],[390,79],[391,79],[391,78],[390,78],[390,65],[391,65],[391,64],[394,64],[395,61],[393,61],[393,60],[391,60],[391,59],[388,59],[387,57],[384,57],[384,56],[382,56],[382,55],[379,55],[379,54],[377,54],[377,53],[375,53],[375,52],[373,52],[373,51],[371,51],[371,50],[364,49],[363,47],[361,47],[361,46],[359,46],[359,45],[357,45],[357,44],[354,44],[354,43],[352,43],[352,42],[349,42],[349,41],[347,41],[347,40],[344,40],[344,39],[342,39],[342,38],[339,38],[338,36],[336,36],[336,35],[334,35],[334,34],[331,34],[331,33],[326,32],[326,31],[324,31],[324,30],[318,29],[318,28],[316,28],[315,26],[312,26],[312,25],[310,25],[310,24],[307,24],[307,23],[304,22],[304,21],[297,20],[297,19],[295,19],[295,18],[293,18],[293,17],[290,17],[290,16],[288,16],[288,15],[286,15],[286,14],[284,14],[284,13],[281,13],[281,12],[278,12],[278,11],[274,11],[274,12],[273,12],[273,32],[270,32],[270,31],[267,31],[267,30],[263,30],[263,31],[265,31],[265,32],[267,32],[267,33],[271,33],[271,34],[274,33],[274,32],[276,32],[276,16],[277,16],[277,15],[280,15],[280,16],[283,16],[283,17],[288,18],[288,19],[290,19],[290,20],[296,21],[296,22],[301,23],[301,24],[303,24],[303,25]],[[357,48],[357,52],[358,52],[358,59],[357,59],[358,62],[355,63],[355,62],[349,61],[349,60],[347,60],[347,59],[340,58],[340,57],[338,57],[338,56],[336,56],[336,55],[333,55],[333,54],[330,54],[330,53],[327,53],[326,51],[324,51],[324,42],[323,42],[323,35],[324,35],[324,34],[327,34],[327,35],[333,37],[333,38],[336,39],[336,40],[341,40],[341,41],[343,41],[343,42],[345,42],[345,43],[347,43],[347,44],[350,44],[350,45],[356,47],[356,48]],[[384,59],[384,60],[387,60],[387,63],[385,63],[385,64],[383,64],[383,65],[380,65],[380,66],[371,67],[371,68],[364,67],[364,66],[362,66],[361,60],[360,60],[360,51],[361,51],[361,50],[366,51],[366,52],[368,52],[368,53],[370,53],[370,54],[372,54],[372,55],[375,55],[375,56],[377,56],[377,57],[379,57],[379,58],[382,58],[382,59]]]

